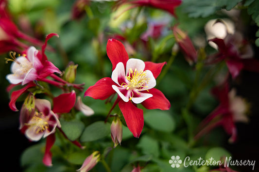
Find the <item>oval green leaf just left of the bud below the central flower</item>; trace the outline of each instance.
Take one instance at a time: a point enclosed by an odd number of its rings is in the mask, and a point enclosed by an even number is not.
[[[104,121],[97,121],[86,127],[80,140],[86,141],[96,141],[102,139],[110,134],[110,124],[104,123]]]

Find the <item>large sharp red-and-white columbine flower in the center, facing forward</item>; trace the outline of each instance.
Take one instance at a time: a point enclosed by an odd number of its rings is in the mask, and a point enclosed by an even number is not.
[[[129,130],[138,138],[144,125],[143,110],[137,108],[138,103],[147,109],[168,110],[171,106],[164,94],[154,88],[155,78],[165,62],[129,59],[125,47],[116,39],[108,40],[106,50],[113,66],[112,76],[102,78],[90,86],[85,96],[104,100],[117,93],[119,96],[112,109],[119,104]]]

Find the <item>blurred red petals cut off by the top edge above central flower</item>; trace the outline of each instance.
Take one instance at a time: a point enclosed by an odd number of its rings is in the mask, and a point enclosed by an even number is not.
[[[174,9],[182,3],[182,0],[119,0],[117,7],[122,4],[132,4],[131,8],[148,6],[167,11],[175,16]]]

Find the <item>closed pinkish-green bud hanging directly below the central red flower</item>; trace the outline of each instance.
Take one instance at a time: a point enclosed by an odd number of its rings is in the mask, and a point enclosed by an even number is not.
[[[111,138],[112,138],[112,141],[114,142],[114,147],[116,147],[119,143],[121,144],[122,124],[118,116],[115,116],[111,124]]]

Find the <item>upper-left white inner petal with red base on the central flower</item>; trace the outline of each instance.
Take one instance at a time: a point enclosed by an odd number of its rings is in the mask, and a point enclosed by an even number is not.
[[[124,65],[122,62],[120,62],[116,65],[115,69],[113,70],[113,72],[111,74],[111,78],[118,85],[121,85],[123,82],[128,83],[127,79],[125,78],[125,69],[124,69]],[[122,82],[122,83],[120,83],[120,82]]]

